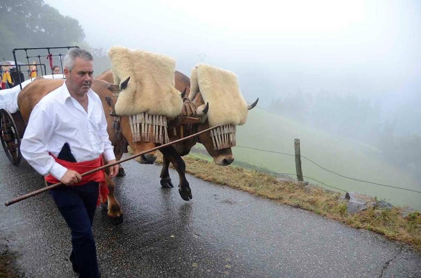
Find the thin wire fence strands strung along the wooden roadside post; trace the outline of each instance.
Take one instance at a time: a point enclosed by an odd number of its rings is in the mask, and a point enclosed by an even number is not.
[[[277,151],[273,151],[273,150],[269,150],[269,149],[259,149],[259,148],[247,147],[247,146],[239,146],[239,145],[236,145],[235,147],[240,147],[240,148],[245,148],[245,149],[253,149],[253,150],[257,150],[257,151],[261,151],[261,152],[276,153],[276,154],[280,154],[280,155],[289,155],[289,156],[294,156],[294,157],[296,156],[295,154],[289,154],[289,153],[285,153],[285,152],[277,152]],[[192,155],[192,154],[190,153],[190,155]],[[192,155],[192,156],[193,156],[193,157],[196,157],[196,158],[198,158],[198,159],[200,159],[200,157],[197,157],[197,156],[195,156],[195,155]],[[327,172],[329,172],[329,173],[333,173],[333,174],[335,174],[335,175],[337,175],[337,176],[340,176],[340,177],[342,177],[342,178],[347,178],[347,179],[354,180],[354,181],[360,181],[360,182],[364,182],[364,183],[367,183],[367,184],[370,184],[370,185],[385,186],[385,187],[391,187],[391,188],[394,188],[394,189],[401,189],[401,190],[407,190],[407,191],[412,191],[412,192],[416,192],[416,193],[421,193],[421,191],[417,191],[417,190],[413,190],[413,189],[402,188],[402,187],[392,186],[392,185],[388,185],[388,184],[380,184],[380,183],[376,183],[376,182],[373,182],[373,181],[365,181],[365,180],[362,180],[362,179],[359,179],[359,178],[352,178],[352,177],[349,177],[349,176],[345,176],[345,175],[342,175],[342,174],[336,173],[336,172],[335,172],[335,171],[333,171],[333,170],[329,170],[329,169],[327,169],[327,168],[325,168],[325,167],[322,167],[320,164],[318,164],[318,163],[314,162],[313,160],[309,159],[308,157],[305,157],[304,155],[300,155],[300,157],[302,157],[302,158],[304,158],[304,159],[308,160],[309,162],[313,163],[313,164],[314,164],[314,165],[316,165],[317,167],[319,167],[319,168],[321,168],[321,169],[323,169],[323,170],[325,170],[325,171],[327,171]],[[237,166],[235,166],[235,167],[237,167]],[[237,168],[243,168],[243,167],[237,167]],[[256,171],[256,172],[260,172],[260,173],[268,173],[268,174],[273,174],[273,175],[293,175],[293,176],[295,176],[295,175],[296,175],[296,174],[294,174],[294,173],[277,173],[277,172],[270,172],[270,171],[262,171],[262,170],[258,170],[258,169],[256,169],[256,168],[255,168],[255,169],[252,169],[252,168],[243,168],[243,169],[253,170],[253,171]],[[309,179],[311,179],[311,180],[313,180],[313,181],[316,181],[316,182],[318,182],[318,183],[320,183],[320,184],[323,184],[323,185],[325,185],[325,186],[328,186],[328,187],[330,187],[330,188],[333,188],[333,189],[338,189],[338,190],[340,190],[340,191],[344,191],[344,192],[346,192],[346,190],[344,190],[344,189],[341,189],[341,188],[338,188],[338,187],[335,187],[335,186],[330,186],[330,185],[325,184],[324,182],[318,181],[318,180],[316,180],[316,179],[314,179],[314,178],[312,178],[312,177],[308,177],[308,176],[303,176],[303,177],[304,177],[304,178],[309,178]]]

